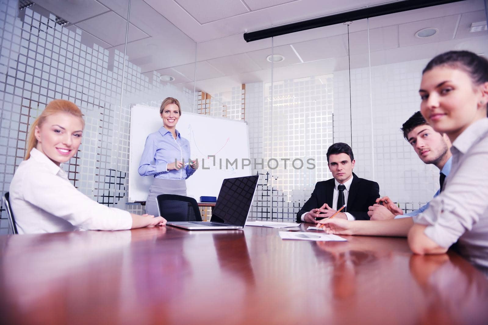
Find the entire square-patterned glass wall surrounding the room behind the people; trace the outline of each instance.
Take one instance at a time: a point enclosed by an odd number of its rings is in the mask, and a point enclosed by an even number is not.
[[[488,53],[483,0],[249,43],[242,34],[197,43],[142,0],[82,3],[0,0],[2,192],[29,125],[63,98],[86,122],[79,153],[64,164],[69,179],[100,203],[142,212],[126,204],[130,107],[173,96],[185,112],[247,122],[252,172],[261,174],[253,219],[294,220],[315,183],[331,177],[334,142],[351,145],[354,172],[381,195],[416,209],[438,188],[438,170],[400,132],[419,110],[421,71],[447,50]]]

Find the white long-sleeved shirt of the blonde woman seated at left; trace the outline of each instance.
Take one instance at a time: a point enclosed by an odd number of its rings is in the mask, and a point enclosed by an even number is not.
[[[78,191],[66,173],[35,148],[12,178],[10,205],[19,233],[132,227],[128,211],[109,208]]]

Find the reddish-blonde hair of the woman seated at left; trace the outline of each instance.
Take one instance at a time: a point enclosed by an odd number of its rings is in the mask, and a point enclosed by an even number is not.
[[[83,123],[83,128],[85,127],[85,121],[83,120],[83,115],[78,106],[69,100],[64,99],[55,99],[51,101],[31,125],[29,138],[27,140],[27,148],[25,149],[25,160],[29,159],[31,150],[37,147],[37,138],[35,134],[36,126],[41,127],[47,116],[56,113],[68,113],[80,117],[81,122]]]

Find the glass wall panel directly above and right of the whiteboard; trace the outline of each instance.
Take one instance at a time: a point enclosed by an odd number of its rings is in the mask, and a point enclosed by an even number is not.
[[[260,219],[272,210],[264,191],[271,175],[253,169],[266,154],[264,139],[270,139],[271,97],[265,93],[276,64],[271,60],[272,48],[272,39],[246,43],[242,34],[197,44],[195,112],[247,122],[251,170],[261,174],[250,217]]]

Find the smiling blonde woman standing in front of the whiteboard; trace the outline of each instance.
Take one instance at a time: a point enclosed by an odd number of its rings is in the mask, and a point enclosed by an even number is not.
[[[198,161],[190,160],[190,143],[176,130],[182,115],[178,99],[164,99],[159,113],[163,126],[147,136],[138,170],[141,176],[154,177],[146,199],[146,213],[154,215],[159,215],[156,197],[159,194],[186,196],[185,180],[198,168]]]

